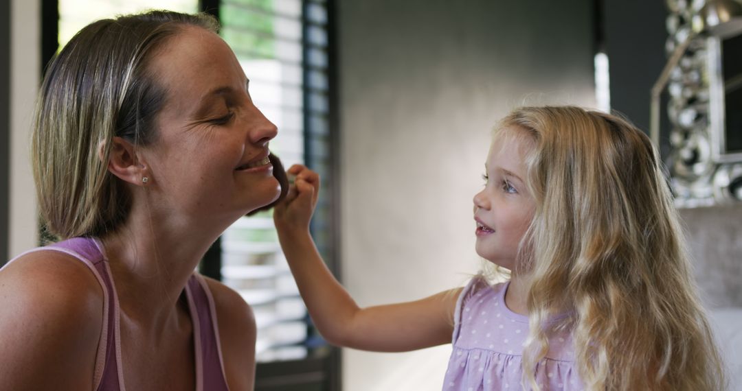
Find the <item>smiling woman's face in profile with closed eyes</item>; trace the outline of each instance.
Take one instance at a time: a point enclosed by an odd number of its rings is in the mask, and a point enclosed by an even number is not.
[[[184,27],[153,56],[165,89],[154,142],[142,148],[154,202],[168,213],[230,224],[280,192],[268,161],[277,128],[249,95],[237,58],[216,34]]]

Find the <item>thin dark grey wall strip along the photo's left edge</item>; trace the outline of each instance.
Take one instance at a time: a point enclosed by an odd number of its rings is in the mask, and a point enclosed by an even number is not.
[[[0,1],[0,53],[0,264],[4,264],[10,195],[10,1]]]

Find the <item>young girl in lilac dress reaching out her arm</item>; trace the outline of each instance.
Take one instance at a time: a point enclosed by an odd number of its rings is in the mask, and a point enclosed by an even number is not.
[[[474,196],[476,251],[510,281],[358,308],[309,235],[318,176],[275,222],[301,295],[332,344],[398,352],[451,341],[444,390],[720,390],[657,153],[622,118],[525,107],[502,120]]]

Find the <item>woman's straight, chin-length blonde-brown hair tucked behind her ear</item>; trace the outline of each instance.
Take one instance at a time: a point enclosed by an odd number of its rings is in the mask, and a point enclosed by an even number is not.
[[[103,235],[126,218],[130,196],[107,169],[111,139],[145,145],[157,136],[155,117],[167,91],[148,71],[148,62],[187,25],[218,29],[206,14],[150,11],[103,19],[80,30],[50,62],[31,139],[48,233]]]

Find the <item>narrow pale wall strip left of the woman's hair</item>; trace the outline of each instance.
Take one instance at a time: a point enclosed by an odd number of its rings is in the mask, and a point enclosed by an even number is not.
[[[28,154],[41,73],[39,0],[10,3],[10,258],[39,243],[36,190]]]

